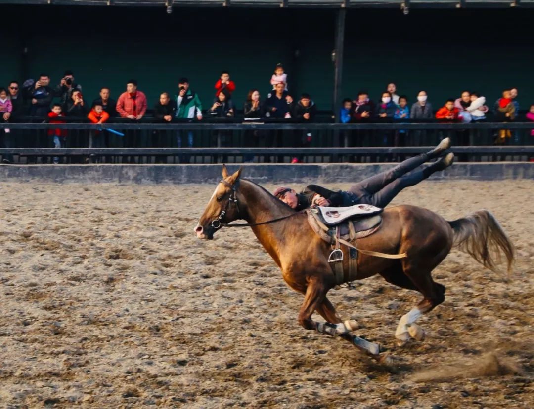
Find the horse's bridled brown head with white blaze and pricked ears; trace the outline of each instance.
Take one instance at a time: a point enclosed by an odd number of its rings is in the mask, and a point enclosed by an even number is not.
[[[233,175],[229,175],[226,166],[223,165],[223,179],[215,187],[215,192],[195,227],[199,239],[213,239],[213,234],[221,227],[221,223],[230,223],[238,218],[237,189],[241,170],[242,167]]]

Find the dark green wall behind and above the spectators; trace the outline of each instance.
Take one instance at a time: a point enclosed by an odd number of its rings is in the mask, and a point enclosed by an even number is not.
[[[190,79],[205,107],[221,69],[237,83],[241,106],[250,88],[269,91],[274,65],[287,67],[289,90],[332,107],[333,10],[175,9],[145,7],[2,6],[11,38],[4,40],[0,81],[50,73],[58,83],[72,69],[92,99],[102,85],[116,97],[137,78],[150,105]],[[501,88],[519,87],[522,108],[534,103],[534,10],[350,10],[345,36],[343,96],[367,89],[373,99],[388,81],[414,100],[426,89],[441,105],[464,88],[493,102]],[[22,49],[28,47],[26,61]],[[28,73],[24,73],[27,70]]]

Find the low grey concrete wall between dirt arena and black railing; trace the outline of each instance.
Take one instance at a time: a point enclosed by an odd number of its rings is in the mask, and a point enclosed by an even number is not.
[[[238,165],[229,165],[237,170]],[[249,164],[243,176],[258,183],[350,183],[376,175],[390,163]],[[11,182],[182,184],[214,183],[221,165],[0,165],[0,179]],[[455,163],[432,179],[492,181],[532,179],[534,162]]]

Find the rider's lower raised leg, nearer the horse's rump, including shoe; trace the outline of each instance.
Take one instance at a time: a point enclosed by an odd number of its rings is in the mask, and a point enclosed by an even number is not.
[[[380,208],[386,207],[387,205],[389,205],[391,200],[393,200],[395,196],[399,194],[399,192],[402,191],[405,187],[417,185],[419,182],[428,178],[431,174],[440,170],[444,170],[445,168],[452,165],[453,160],[454,154],[449,153],[441,160],[438,160],[437,162],[425,167],[422,170],[416,170],[412,173],[404,175],[403,177],[395,179],[395,181],[387,184],[380,191],[372,194],[369,198],[368,204]]]

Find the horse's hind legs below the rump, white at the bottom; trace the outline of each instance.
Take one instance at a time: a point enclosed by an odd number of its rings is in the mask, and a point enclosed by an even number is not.
[[[430,271],[417,273],[410,271],[405,272],[406,276],[410,278],[424,298],[419,302],[417,307],[411,309],[409,313],[400,317],[397,330],[395,331],[395,338],[397,338],[397,344],[399,346],[404,345],[410,339],[410,336],[419,341],[422,340],[425,332],[413,324],[421,315],[434,309],[445,300],[444,285],[434,282],[430,273]],[[412,326],[411,333],[410,326]]]

